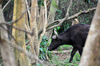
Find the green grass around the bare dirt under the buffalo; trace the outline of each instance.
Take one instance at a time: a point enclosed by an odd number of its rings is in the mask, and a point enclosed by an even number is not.
[[[68,45],[63,45],[60,47],[60,49],[71,49],[72,46],[68,46]],[[66,53],[67,55],[67,53]],[[65,55],[65,56],[66,56]],[[50,64],[52,64],[53,66],[78,66],[79,61],[80,61],[80,55],[79,53],[76,53],[73,57],[73,61],[72,63],[69,63],[69,58],[70,55],[66,56],[66,59],[61,60],[61,57],[58,56],[57,54],[52,55],[52,59],[50,61]]]

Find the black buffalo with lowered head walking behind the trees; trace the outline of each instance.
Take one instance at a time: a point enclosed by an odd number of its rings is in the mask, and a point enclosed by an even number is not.
[[[72,45],[73,50],[69,60],[69,62],[71,62],[77,50],[79,51],[80,56],[82,55],[89,28],[90,25],[75,24],[59,35],[55,32],[55,35],[52,36],[52,42],[48,47],[48,50],[54,50],[61,45]]]

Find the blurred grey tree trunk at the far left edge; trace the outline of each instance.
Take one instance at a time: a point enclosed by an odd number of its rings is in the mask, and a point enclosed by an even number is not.
[[[0,23],[5,22],[2,7],[1,7],[1,0],[0,0]],[[3,28],[7,29],[5,25],[1,25]],[[4,66],[15,66],[14,55],[12,53],[11,47],[6,42],[8,40],[8,33],[0,26],[0,50],[3,59]]]

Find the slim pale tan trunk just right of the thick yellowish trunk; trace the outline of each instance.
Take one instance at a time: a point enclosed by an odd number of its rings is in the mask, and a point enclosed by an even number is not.
[[[31,49],[32,53],[35,56],[39,56],[39,45],[38,45],[38,28],[37,28],[37,0],[32,0],[31,4],[31,18],[30,18],[30,27],[31,31],[34,29],[34,36],[32,36],[32,46],[33,49]],[[32,48],[32,47],[31,47]]]

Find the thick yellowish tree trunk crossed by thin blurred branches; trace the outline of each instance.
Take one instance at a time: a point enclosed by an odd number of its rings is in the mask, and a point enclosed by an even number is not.
[[[13,11],[13,20],[18,19],[21,14],[25,11],[25,1],[24,0],[14,0],[14,11]],[[25,14],[23,17],[14,24],[14,26],[25,29]],[[21,46],[23,49],[26,49],[25,46],[25,33],[12,29],[12,34],[14,38],[16,39],[17,43],[19,46]],[[15,61],[16,61],[16,66],[29,66],[28,63],[28,57],[24,55],[22,52],[19,52],[18,50],[15,49]]]

